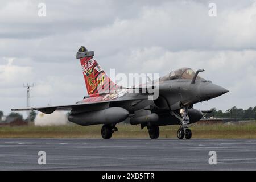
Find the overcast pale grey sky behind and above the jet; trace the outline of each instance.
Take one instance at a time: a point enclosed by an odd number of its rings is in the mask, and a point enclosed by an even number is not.
[[[46,17],[38,4],[46,4]],[[210,17],[209,3],[217,16]],[[72,104],[85,96],[80,46],[106,73],[205,69],[201,77],[230,90],[196,109],[256,105],[255,1],[0,2],[0,110]]]

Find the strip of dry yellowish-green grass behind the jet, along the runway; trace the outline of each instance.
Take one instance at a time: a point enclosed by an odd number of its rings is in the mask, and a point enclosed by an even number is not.
[[[140,125],[117,125],[112,138],[149,138],[147,129]],[[159,138],[176,138],[178,125],[161,126]],[[256,122],[237,125],[196,125],[191,127],[192,138],[255,138]],[[101,125],[79,126],[3,126],[0,138],[101,138]]]

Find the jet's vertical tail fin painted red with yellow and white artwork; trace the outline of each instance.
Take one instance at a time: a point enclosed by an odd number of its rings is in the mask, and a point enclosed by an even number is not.
[[[98,95],[113,92],[117,85],[110,80],[97,61],[93,59],[93,56],[94,52],[87,51],[84,46],[81,46],[76,55],[76,58],[80,59],[81,62],[88,94]]]

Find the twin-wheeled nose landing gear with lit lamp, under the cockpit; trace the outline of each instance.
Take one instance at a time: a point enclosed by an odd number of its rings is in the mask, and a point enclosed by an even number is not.
[[[180,110],[181,113],[181,120],[180,120],[180,128],[177,131],[177,138],[183,139],[191,139],[192,137],[192,132],[188,128],[189,127],[189,117],[188,117],[188,107],[184,107],[183,109]]]

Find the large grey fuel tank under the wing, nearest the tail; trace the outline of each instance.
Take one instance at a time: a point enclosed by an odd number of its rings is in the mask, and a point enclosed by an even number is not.
[[[98,125],[119,123],[129,116],[129,111],[121,107],[110,107],[104,110],[92,111],[88,113],[71,114],[68,117],[70,122],[77,125]]]

